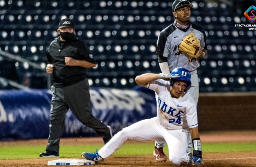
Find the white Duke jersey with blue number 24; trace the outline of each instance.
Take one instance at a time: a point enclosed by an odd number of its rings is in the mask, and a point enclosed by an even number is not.
[[[170,82],[162,79],[151,81],[147,88],[155,91],[160,125],[169,130],[197,127],[196,104],[188,92],[172,98]]]

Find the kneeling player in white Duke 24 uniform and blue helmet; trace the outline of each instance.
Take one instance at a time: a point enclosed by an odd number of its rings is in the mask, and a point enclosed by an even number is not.
[[[126,141],[165,140],[169,158],[175,165],[203,164],[202,148],[197,129],[196,104],[187,92],[191,75],[186,68],[177,67],[171,74],[146,73],[135,78],[138,85],[155,91],[157,117],[139,121],[118,132],[99,152],[82,153],[92,161],[103,161]],[[164,79],[164,80],[163,80]],[[171,81],[166,81],[171,79]],[[187,156],[189,132],[193,141],[193,155]]]

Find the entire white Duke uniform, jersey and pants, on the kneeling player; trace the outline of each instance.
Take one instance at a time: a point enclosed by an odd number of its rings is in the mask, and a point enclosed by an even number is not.
[[[169,82],[162,79],[151,81],[147,87],[156,93],[157,117],[123,128],[99,150],[99,155],[107,158],[129,140],[165,140],[170,161],[178,166],[188,163],[191,158],[187,155],[191,151],[188,147],[188,128],[197,127],[196,104],[193,98],[189,93],[172,98]]]

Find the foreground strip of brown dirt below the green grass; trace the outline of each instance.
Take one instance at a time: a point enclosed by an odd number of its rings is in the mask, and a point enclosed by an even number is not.
[[[204,153],[204,167],[255,167],[256,152]],[[232,159],[233,158],[233,159]],[[46,167],[48,161],[58,158],[1,160],[1,167]],[[170,161],[156,162],[153,155],[147,156],[110,156],[104,162],[91,165],[97,167],[174,167]],[[49,166],[50,167],[50,166]],[[54,167],[54,166],[52,166]]]

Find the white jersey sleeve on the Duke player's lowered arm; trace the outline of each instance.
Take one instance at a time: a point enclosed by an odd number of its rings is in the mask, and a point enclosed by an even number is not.
[[[191,104],[191,107],[186,112],[186,117],[187,117],[187,125],[189,128],[194,128],[198,126],[195,104]]]

